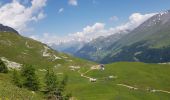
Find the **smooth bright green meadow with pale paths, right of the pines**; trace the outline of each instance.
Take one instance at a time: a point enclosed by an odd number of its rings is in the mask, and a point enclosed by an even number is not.
[[[80,100],[169,100],[169,93],[147,90],[170,91],[169,70],[170,65],[113,63],[106,65],[104,71],[93,70],[86,74],[96,78],[95,83],[90,83],[88,79],[85,81],[80,76],[78,78],[75,72],[75,83],[70,84],[68,88]],[[107,77],[111,75],[117,78],[109,80]],[[117,84],[126,84],[138,89],[133,90]]]

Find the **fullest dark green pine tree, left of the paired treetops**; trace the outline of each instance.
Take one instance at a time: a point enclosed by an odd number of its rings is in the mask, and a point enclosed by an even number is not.
[[[24,77],[24,86],[32,91],[39,89],[39,79],[36,76],[35,68],[32,65],[25,65],[21,69],[21,75]]]

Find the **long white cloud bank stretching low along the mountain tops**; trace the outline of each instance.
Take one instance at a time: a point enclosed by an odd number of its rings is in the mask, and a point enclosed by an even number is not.
[[[129,17],[129,21],[127,23],[124,23],[117,27],[111,27],[109,29],[105,28],[104,23],[95,23],[94,25],[86,26],[81,32],[75,32],[63,37],[59,37],[57,35],[49,35],[48,33],[46,33],[43,36],[32,36],[31,38],[34,38],[47,44],[70,43],[76,41],[89,42],[99,36],[108,36],[111,34],[133,30],[155,14],[156,13],[142,15],[140,13],[134,13]]]

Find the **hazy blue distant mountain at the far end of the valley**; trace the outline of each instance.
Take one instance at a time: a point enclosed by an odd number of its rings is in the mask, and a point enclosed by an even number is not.
[[[109,37],[99,37],[85,44],[79,51],[74,53],[75,56],[100,62],[100,60],[110,53],[107,50],[113,43],[119,40],[126,33],[117,33]]]

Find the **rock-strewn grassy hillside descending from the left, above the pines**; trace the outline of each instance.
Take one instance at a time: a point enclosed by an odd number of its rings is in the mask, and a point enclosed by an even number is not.
[[[49,56],[43,56],[47,45],[38,41],[22,37],[15,33],[0,33],[0,57],[6,57],[10,61],[15,61],[21,64],[33,64],[37,67],[55,66],[57,64],[69,65],[84,64],[87,61],[74,58],[70,55],[56,52],[49,48],[47,54]],[[55,59],[59,57],[59,59]]]

